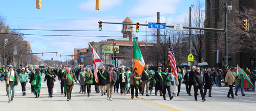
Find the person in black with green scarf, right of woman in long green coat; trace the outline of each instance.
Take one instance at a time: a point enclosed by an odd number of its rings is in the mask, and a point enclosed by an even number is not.
[[[48,71],[46,72],[45,80],[44,83],[47,80],[47,87],[48,87],[48,98],[52,98],[53,96],[53,87],[54,87],[54,82],[55,80],[55,74],[52,70],[52,68],[49,68]]]

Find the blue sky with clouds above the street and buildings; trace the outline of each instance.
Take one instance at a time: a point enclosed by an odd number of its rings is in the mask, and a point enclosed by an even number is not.
[[[191,3],[197,0],[101,0],[101,10],[95,10],[95,0],[52,1],[42,0],[42,8],[36,9],[36,1],[1,1],[0,14],[7,18],[7,25],[16,29],[54,29],[54,30],[98,30],[98,21],[121,23],[127,16],[136,23],[157,22],[157,12],[161,12],[161,23],[166,20],[169,25],[182,22],[188,14]],[[177,14],[181,13],[181,14]],[[171,15],[168,15],[171,14]],[[145,17],[147,16],[147,17]],[[148,17],[150,16],[150,17]],[[20,18],[21,17],[21,18]],[[28,19],[30,18],[30,19]],[[44,18],[44,19],[31,19]],[[106,19],[109,18],[109,19]],[[76,19],[76,20],[71,20]],[[83,19],[83,20],[77,20]],[[102,30],[120,32],[63,32],[63,31],[28,31],[24,34],[50,35],[122,35],[122,25],[103,24]],[[145,30],[145,27],[140,27]],[[148,30],[148,29],[147,29]],[[145,35],[145,32],[136,33]],[[31,43],[33,52],[58,52],[44,54],[42,59],[62,60],[60,54],[72,54],[74,48],[87,48],[88,42],[106,40],[110,37],[63,37],[63,36],[30,36],[25,40]],[[140,37],[139,41],[145,37]]]

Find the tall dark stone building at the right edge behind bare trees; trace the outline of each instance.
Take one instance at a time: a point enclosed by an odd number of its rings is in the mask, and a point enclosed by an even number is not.
[[[233,20],[236,17],[234,13],[236,10],[243,11],[243,7],[254,8],[256,9],[256,1],[255,0],[223,0],[224,3],[227,3],[228,6],[232,6],[232,10],[227,13],[227,19]],[[223,4],[224,5],[224,4]],[[205,28],[218,28],[224,29],[224,10],[221,4],[221,1],[217,0],[206,0],[205,1]],[[241,24],[242,27],[242,24]],[[214,32],[214,33],[211,33]],[[216,33],[216,31],[206,31],[204,36],[210,38],[218,38],[220,36],[220,32]],[[209,67],[221,67],[224,64],[224,53],[219,52],[219,62],[217,63],[217,52],[211,48],[211,43],[217,42],[217,40],[205,38],[205,50],[204,50],[204,58],[205,62],[209,64]],[[219,38],[218,38],[219,39]],[[224,34],[221,37],[224,39]],[[224,45],[223,45],[224,47]],[[255,57],[255,55],[251,55],[249,53],[228,53],[228,65],[235,66],[239,64],[240,66],[251,66],[250,58]],[[254,66],[251,66],[254,67]]]

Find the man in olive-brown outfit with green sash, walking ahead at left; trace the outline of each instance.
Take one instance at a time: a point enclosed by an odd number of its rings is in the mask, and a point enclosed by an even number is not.
[[[71,68],[68,68],[67,73],[62,76],[62,81],[65,81],[66,90],[67,90],[67,101],[71,100],[71,93],[74,86],[74,79],[77,83],[77,79],[74,73],[71,72]]]

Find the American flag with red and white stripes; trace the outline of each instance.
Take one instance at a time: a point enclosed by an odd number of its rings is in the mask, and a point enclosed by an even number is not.
[[[168,58],[170,60],[170,66],[172,66],[172,73],[175,75],[175,79],[178,80],[176,61],[175,61],[175,56],[174,56],[172,42],[170,41],[170,35],[169,35]]]

